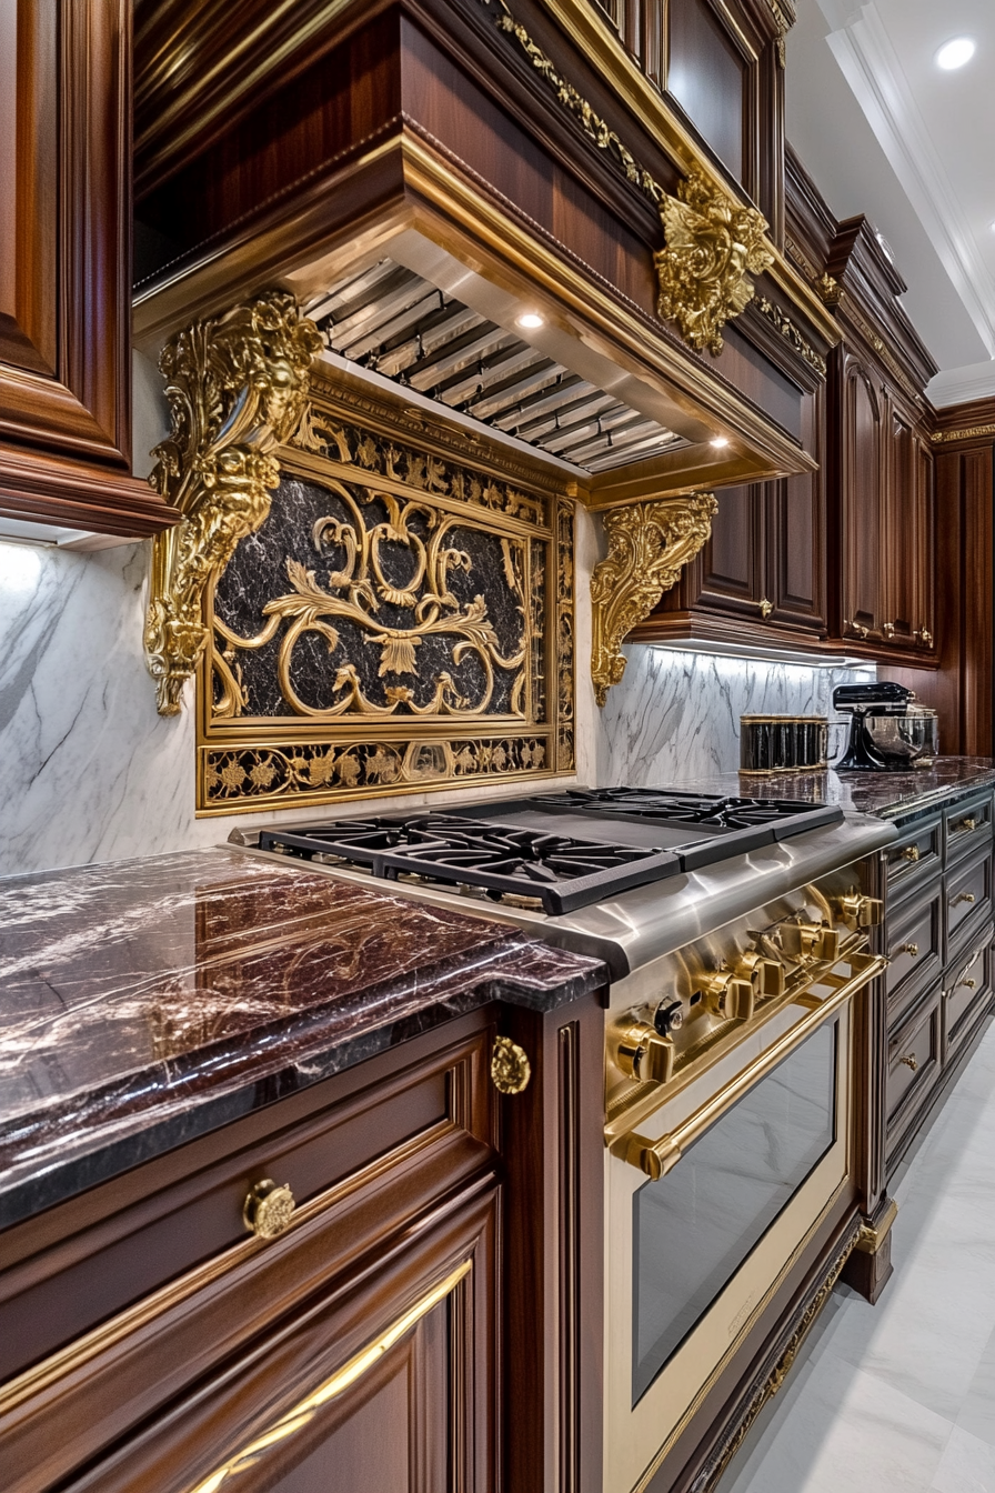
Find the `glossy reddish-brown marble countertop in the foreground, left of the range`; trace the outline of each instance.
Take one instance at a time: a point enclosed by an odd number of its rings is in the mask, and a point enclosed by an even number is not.
[[[204,850],[0,879],[0,1227],[492,999],[604,964]]]

